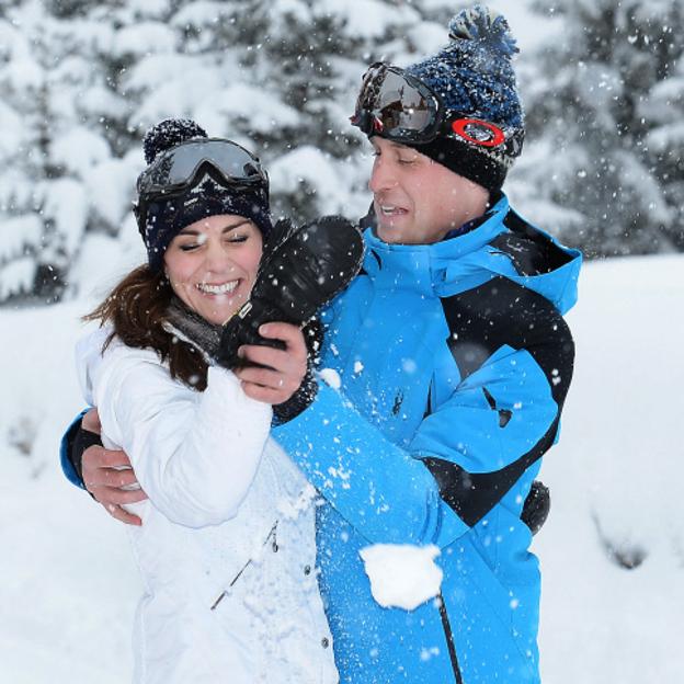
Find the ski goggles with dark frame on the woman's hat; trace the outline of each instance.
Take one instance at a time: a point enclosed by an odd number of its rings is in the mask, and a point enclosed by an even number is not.
[[[269,192],[265,169],[237,142],[225,138],[186,140],[160,153],[138,176],[134,213],[140,230],[145,228],[151,203],[182,195],[205,173],[227,189]]]

